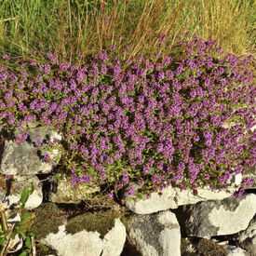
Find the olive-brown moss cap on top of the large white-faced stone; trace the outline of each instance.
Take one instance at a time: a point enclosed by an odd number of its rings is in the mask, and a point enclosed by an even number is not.
[[[71,219],[66,225],[69,234],[86,230],[100,233],[101,239],[115,226],[115,219],[121,218],[119,212],[113,209],[108,211],[87,212]]]

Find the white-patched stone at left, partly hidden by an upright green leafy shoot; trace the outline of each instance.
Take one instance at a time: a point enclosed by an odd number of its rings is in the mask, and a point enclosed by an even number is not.
[[[42,184],[36,176],[13,176],[14,181],[11,183],[9,195],[7,191],[0,188],[0,200],[3,201],[4,207],[9,208],[20,201],[20,195],[24,187],[34,186],[33,193],[25,203],[25,209],[35,209],[43,201]]]

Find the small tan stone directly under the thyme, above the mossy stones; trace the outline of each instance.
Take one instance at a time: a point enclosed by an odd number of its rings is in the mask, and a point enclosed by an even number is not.
[[[57,192],[49,195],[49,201],[54,203],[78,204],[85,199],[86,195],[98,191],[101,191],[99,186],[89,187],[84,183],[78,184],[74,188],[71,179],[64,177],[58,182]]]

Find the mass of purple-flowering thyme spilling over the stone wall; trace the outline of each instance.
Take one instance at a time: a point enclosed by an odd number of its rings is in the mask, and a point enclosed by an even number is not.
[[[61,130],[74,186],[129,186],[130,197],[130,182],[141,185],[142,197],[162,195],[169,185],[195,194],[208,185],[225,190],[232,175],[256,161],[252,57],[224,55],[215,41],[196,35],[177,48],[175,56],[156,52],[152,60],[111,62],[101,52],[88,65],[70,65],[48,52],[46,63],[2,66],[1,128],[36,120]],[[235,195],[253,182],[244,179]]]

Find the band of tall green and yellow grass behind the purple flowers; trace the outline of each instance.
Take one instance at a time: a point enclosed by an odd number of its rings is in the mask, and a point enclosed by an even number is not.
[[[112,45],[119,52],[130,46],[125,54],[132,58],[169,52],[186,31],[215,39],[231,53],[255,51],[253,0],[2,0],[0,5],[0,53],[28,55],[42,42],[61,61]]]

